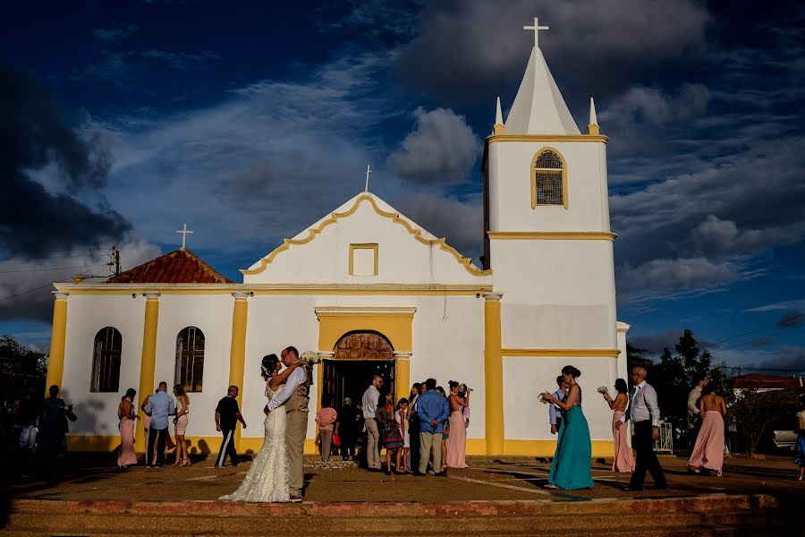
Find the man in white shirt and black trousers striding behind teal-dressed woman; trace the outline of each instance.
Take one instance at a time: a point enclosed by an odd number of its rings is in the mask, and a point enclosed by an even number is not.
[[[637,451],[634,472],[631,474],[629,486],[624,490],[643,490],[646,481],[646,471],[654,478],[654,488],[663,490],[668,488],[663,468],[659,464],[657,454],[654,453],[654,442],[659,439],[659,405],[657,405],[657,391],[646,382],[648,372],[635,367],[631,370],[631,382],[634,386],[629,390],[629,407],[615,427],[620,429],[631,420],[634,427],[632,447]]]

